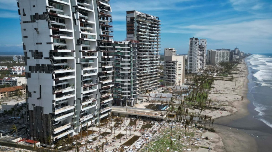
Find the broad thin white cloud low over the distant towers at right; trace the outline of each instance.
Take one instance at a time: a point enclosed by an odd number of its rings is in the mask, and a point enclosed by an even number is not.
[[[212,47],[241,46],[246,50],[268,47],[272,38],[272,19],[245,21],[233,24],[189,25],[178,27],[176,32],[191,33],[192,37],[207,38]],[[174,31],[174,30],[173,30]]]

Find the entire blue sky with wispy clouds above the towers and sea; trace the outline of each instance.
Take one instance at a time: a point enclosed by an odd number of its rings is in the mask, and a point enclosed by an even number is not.
[[[161,52],[187,53],[190,37],[206,38],[208,49],[271,53],[271,0],[111,0],[114,40],[126,38],[126,11],[161,20]],[[0,0],[0,51],[23,51],[16,0]]]

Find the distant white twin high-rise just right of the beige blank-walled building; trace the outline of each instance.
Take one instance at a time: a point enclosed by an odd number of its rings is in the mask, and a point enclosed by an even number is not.
[[[188,72],[198,73],[206,66],[207,40],[190,38],[188,51]]]

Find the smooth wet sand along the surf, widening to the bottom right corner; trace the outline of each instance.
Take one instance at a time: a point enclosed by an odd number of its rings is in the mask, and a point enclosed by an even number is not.
[[[254,118],[258,112],[250,102],[253,99],[248,88],[252,86],[248,86],[248,82],[245,79],[244,87],[239,90],[238,94],[247,98],[236,105],[237,112],[215,119],[214,127],[224,143],[220,148],[222,151],[272,151],[272,128]]]

